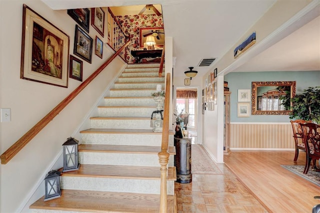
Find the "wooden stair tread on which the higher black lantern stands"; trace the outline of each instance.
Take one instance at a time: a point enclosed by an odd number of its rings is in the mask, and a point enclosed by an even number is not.
[[[62,170],[62,168],[60,169]],[[61,176],[125,179],[160,179],[159,166],[80,164],[78,170],[61,172]],[[176,180],[175,167],[168,167],[167,180]]]

